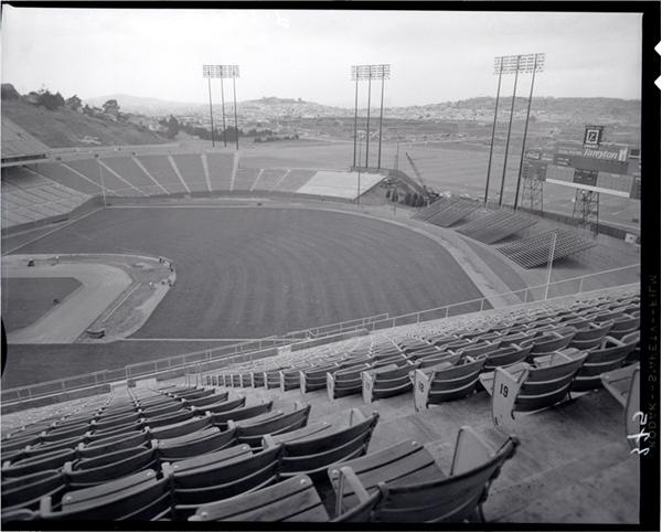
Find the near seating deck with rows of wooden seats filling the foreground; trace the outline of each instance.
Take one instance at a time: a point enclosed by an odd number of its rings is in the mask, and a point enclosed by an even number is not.
[[[638,462],[594,365],[637,362],[639,305],[623,287],[476,312],[3,417],[2,520],[509,522],[566,488],[613,515]]]

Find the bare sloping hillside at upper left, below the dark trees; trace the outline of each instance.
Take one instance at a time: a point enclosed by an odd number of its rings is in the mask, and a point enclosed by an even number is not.
[[[51,148],[90,146],[86,138],[104,146],[154,145],[167,140],[147,128],[76,113],[68,108],[47,110],[18,99],[2,100],[2,116],[18,124]]]

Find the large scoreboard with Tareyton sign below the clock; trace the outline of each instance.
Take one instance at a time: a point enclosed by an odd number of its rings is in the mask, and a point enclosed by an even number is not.
[[[558,143],[555,151],[526,150],[524,179],[641,199],[641,152],[626,145]]]

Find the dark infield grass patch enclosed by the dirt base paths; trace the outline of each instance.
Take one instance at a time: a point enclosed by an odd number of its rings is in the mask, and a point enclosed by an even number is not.
[[[34,323],[81,286],[72,277],[2,278],[2,321],[7,332]]]

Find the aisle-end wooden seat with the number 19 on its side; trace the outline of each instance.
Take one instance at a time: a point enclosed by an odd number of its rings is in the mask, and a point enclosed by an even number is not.
[[[515,412],[530,413],[560,402],[587,357],[586,351],[570,348],[537,357],[533,365],[521,362],[481,374],[480,383],[492,396],[494,426],[513,428]]]

